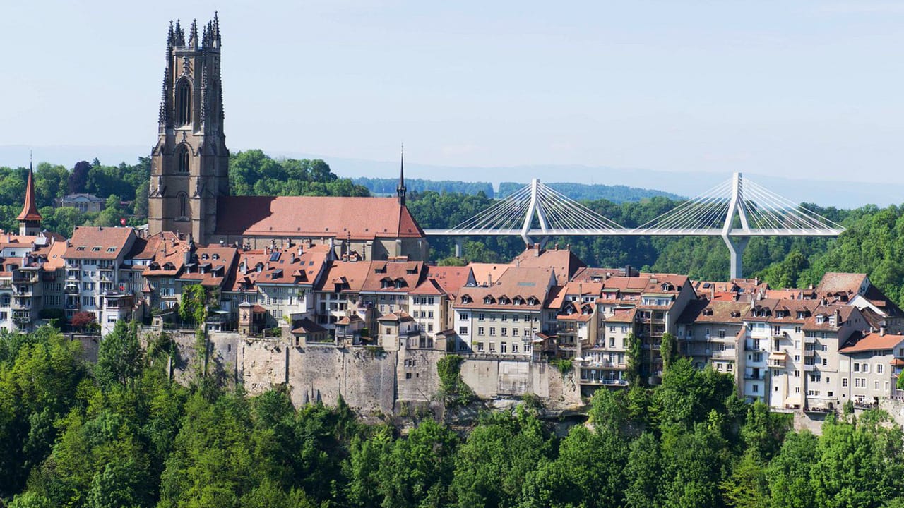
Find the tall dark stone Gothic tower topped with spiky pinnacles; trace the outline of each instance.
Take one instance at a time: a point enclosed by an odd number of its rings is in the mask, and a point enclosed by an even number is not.
[[[217,226],[217,198],[229,194],[229,150],[223,135],[217,15],[185,40],[170,23],[157,143],[151,152],[148,232],[174,231],[207,243]]]

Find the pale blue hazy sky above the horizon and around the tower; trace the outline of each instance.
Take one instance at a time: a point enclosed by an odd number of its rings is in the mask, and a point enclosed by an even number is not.
[[[233,151],[904,183],[904,3],[866,0],[5,1],[0,145],[149,151],[169,21],[215,9]]]

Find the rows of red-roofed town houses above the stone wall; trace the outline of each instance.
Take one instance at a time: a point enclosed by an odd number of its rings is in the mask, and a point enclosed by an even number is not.
[[[772,288],[757,279],[588,267],[558,245],[528,246],[507,264],[440,267],[372,248],[398,238],[363,238],[385,222],[361,212],[369,202],[386,208],[390,201],[406,227],[419,230],[401,197],[306,198],[358,210],[320,214],[324,221],[355,221],[333,235],[326,230],[338,225],[313,219],[306,229],[323,230],[320,237],[262,248],[127,227],[80,227],[63,239],[40,230],[31,182],[27,188],[20,231],[2,233],[0,319],[11,332],[78,314],[89,315],[101,335],[118,320],[135,319],[148,331],[189,327],[177,312],[180,298],[185,287],[201,285],[210,334],[299,348],[432,351],[522,366],[515,370],[566,360],[584,396],[632,380],[658,383],[663,347],[700,369],[732,373],[739,396],[773,409],[830,411],[848,400],[870,407],[901,393],[904,313],[865,274],[827,273],[816,287]],[[405,234],[421,246],[415,252],[426,250],[422,233]],[[400,378],[419,376],[414,360],[401,355],[400,363]]]

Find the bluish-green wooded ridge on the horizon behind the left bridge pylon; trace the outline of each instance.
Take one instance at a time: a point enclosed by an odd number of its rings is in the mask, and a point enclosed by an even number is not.
[[[395,178],[353,178],[352,182],[367,187],[375,195],[394,194],[399,180]],[[435,191],[437,193],[484,193],[488,198],[504,198],[522,188],[524,183],[502,182],[499,191],[494,192],[493,183],[489,182],[456,182],[452,180],[424,180],[422,178],[406,178],[405,187],[409,193]],[[574,200],[605,199],[610,202],[638,202],[653,196],[664,196],[670,199],[683,199],[681,196],[652,189],[640,189],[626,185],[602,185],[587,183],[549,183],[553,189]]]

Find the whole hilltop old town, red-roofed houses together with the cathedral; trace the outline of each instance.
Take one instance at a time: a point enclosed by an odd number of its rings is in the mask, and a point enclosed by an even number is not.
[[[691,280],[588,267],[568,246],[540,244],[504,264],[437,266],[406,205],[404,165],[391,197],[231,195],[220,57],[216,16],[187,37],[170,27],[146,226],[81,226],[69,239],[43,230],[29,170],[19,231],[0,233],[0,326],[100,336],[122,320],[146,334],[197,327],[251,390],[285,383],[297,401],[369,391],[381,410],[431,400],[446,355],[471,362],[462,375],[479,396],[535,393],[564,406],[655,385],[676,355],[731,373],[740,397],[773,409],[869,407],[904,393],[904,314],[865,274],[826,273],[805,288]],[[190,322],[179,306],[196,287],[204,312]],[[249,356],[250,341],[268,357]],[[396,365],[374,389],[316,362],[298,367],[312,347],[339,352],[342,369],[356,348]],[[568,380],[551,381],[551,361]]]

